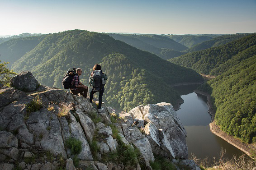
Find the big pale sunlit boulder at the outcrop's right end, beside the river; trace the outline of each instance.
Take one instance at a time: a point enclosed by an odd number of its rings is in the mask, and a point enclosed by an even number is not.
[[[170,103],[137,106],[129,114],[133,119],[144,119],[144,132],[153,152],[169,158],[188,158],[186,131]]]

